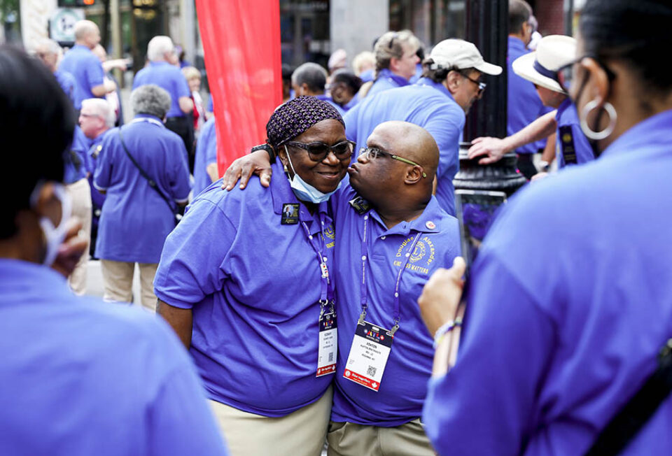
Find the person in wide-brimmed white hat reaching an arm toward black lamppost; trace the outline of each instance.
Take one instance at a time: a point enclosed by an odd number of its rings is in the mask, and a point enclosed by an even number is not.
[[[539,98],[554,111],[542,115],[524,129],[506,138],[476,138],[469,149],[469,157],[482,157],[479,163],[488,164],[521,146],[547,138],[556,133],[558,167],[583,164],[595,159],[588,138],[580,127],[576,107],[568,97],[576,42],[570,36],[549,35],[542,38],[535,52],[523,55],[513,62],[513,71],[535,84]],[[549,163],[542,162],[541,172],[532,180],[547,176]]]

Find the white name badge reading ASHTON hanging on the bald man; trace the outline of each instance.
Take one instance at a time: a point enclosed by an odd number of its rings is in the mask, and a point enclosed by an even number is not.
[[[393,339],[394,336],[387,329],[369,322],[358,324],[343,372],[344,378],[378,391]]]

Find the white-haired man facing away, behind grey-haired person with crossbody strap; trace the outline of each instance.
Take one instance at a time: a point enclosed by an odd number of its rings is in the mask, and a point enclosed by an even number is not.
[[[194,109],[191,91],[179,66],[172,64],[175,45],[169,36],[155,36],[147,45],[149,65],[138,71],[133,79],[133,88],[155,84],[168,92],[171,99],[166,114],[166,127],[182,138],[188,153],[190,168],[193,168],[194,124],[190,117]]]

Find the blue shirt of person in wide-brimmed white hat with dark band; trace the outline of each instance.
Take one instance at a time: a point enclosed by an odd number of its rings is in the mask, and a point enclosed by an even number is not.
[[[556,141],[558,167],[592,162],[595,159],[593,149],[581,129],[576,106],[569,98],[558,106],[555,119],[558,122]],[[569,163],[565,160],[565,154],[568,155]]]

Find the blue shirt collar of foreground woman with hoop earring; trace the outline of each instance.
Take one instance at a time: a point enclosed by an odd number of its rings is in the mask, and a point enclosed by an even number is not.
[[[649,144],[672,143],[672,109],[642,120],[622,134],[602,152],[603,156],[617,156],[638,150]],[[602,157],[601,157],[602,159]]]

